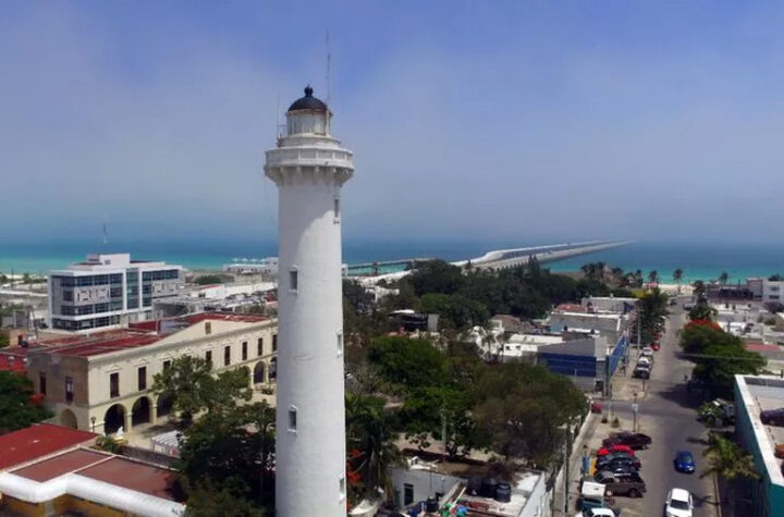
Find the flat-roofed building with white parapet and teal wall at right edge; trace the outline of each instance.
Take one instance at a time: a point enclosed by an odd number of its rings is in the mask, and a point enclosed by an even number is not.
[[[735,434],[743,448],[754,456],[761,476],[742,482],[736,501],[747,501],[736,515],[775,517],[784,508],[783,461],[775,455],[784,443],[784,428],[765,426],[760,411],[784,407],[784,379],[773,376],[735,376]]]

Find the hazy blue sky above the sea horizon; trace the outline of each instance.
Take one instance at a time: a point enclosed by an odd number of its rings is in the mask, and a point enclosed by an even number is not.
[[[311,84],[347,239],[781,241],[784,5],[8,0],[0,239],[274,239]]]

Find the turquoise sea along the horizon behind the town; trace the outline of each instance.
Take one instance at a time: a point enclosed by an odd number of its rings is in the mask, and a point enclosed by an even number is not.
[[[434,257],[444,260],[475,258],[492,249],[536,246],[541,242],[379,242],[346,239],[343,260],[347,263]],[[0,248],[0,272],[45,273],[84,259],[94,251],[130,251],[134,258],[166,260],[189,269],[220,269],[234,258],[262,258],[277,255],[274,242],[126,242],[4,244]],[[684,244],[639,242],[615,249],[549,263],[553,271],[575,271],[586,262],[603,261],[624,270],[642,270],[647,276],[657,270],[663,281],[676,268],[686,280],[711,280],[727,271],[733,281],[748,276],[784,273],[782,244]]]

